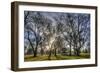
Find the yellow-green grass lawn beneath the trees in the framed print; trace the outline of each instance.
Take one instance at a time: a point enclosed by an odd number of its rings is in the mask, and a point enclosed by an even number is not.
[[[50,60],[71,60],[71,59],[87,59],[90,58],[90,55],[87,53],[81,53],[80,56],[63,56],[63,55],[52,55]],[[25,55],[24,61],[44,61],[48,60],[48,55],[38,55],[37,57],[33,57],[33,55]]]

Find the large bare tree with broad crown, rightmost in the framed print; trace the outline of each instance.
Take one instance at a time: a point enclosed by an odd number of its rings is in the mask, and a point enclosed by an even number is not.
[[[66,29],[67,34],[64,35],[65,40],[74,49],[75,55],[80,55],[80,49],[90,38],[90,16],[88,14],[67,14],[66,15]],[[89,42],[88,42],[89,43]]]

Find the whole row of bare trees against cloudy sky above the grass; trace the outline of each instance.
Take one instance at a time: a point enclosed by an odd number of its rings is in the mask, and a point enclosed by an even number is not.
[[[80,56],[90,52],[90,14],[24,12],[24,47],[38,54]],[[66,50],[68,49],[68,52]]]

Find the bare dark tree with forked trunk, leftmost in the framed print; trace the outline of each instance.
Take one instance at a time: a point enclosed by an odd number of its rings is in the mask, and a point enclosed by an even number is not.
[[[32,13],[30,12],[27,12],[27,14],[25,14],[25,33],[27,32],[27,40],[29,41],[32,49],[33,49],[33,53],[34,53],[34,57],[37,56],[37,50],[38,50],[38,45],[41,41],[41,36],[39,34],[39,31],[38,31],[38,26],[37,24],[38,23],[41,23],[40,21],[38,20],[35,20],[35,19],[41,19],[39,18],[40,17],[40,14],[34,14],[34,17],[31,16]],[[27,17],[26,17],[27,16]],[[26,21],[27,21],[27,24],[26,24]]]

